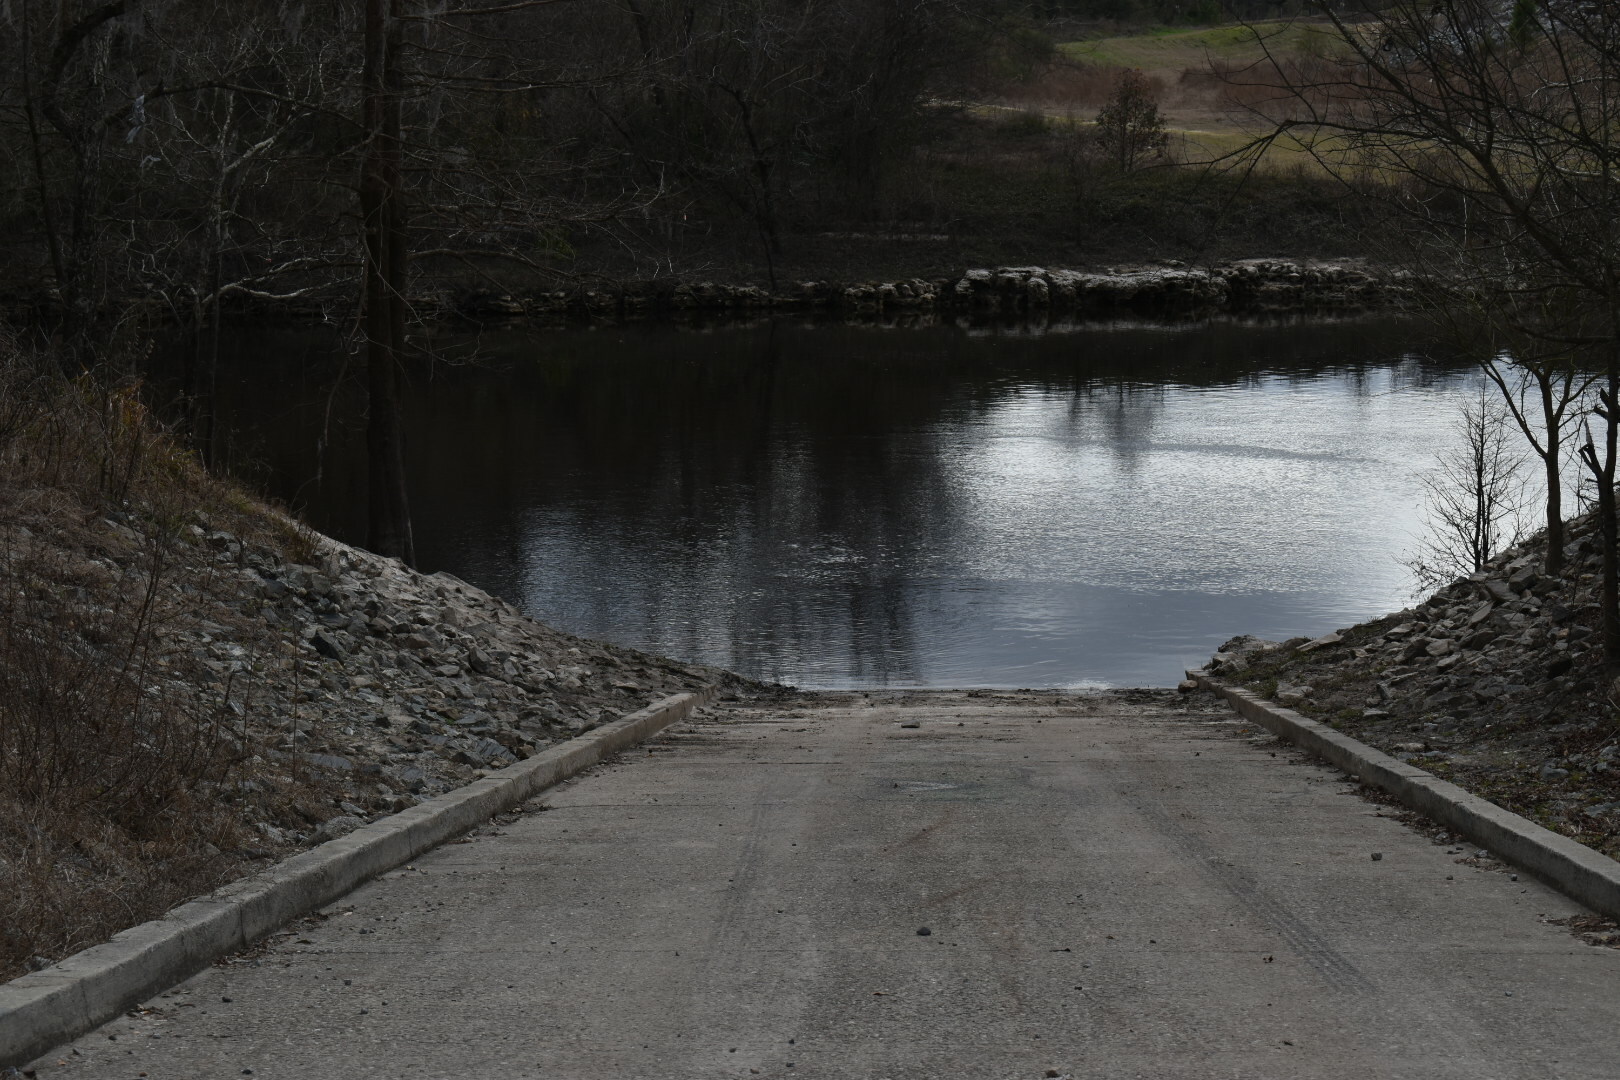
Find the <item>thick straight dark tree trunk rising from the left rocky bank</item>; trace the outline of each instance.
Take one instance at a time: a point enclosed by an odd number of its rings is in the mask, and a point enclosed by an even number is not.
[[[400,76],[394,0],[366,0],[364,125],[360,215],[366,235],[364,330],[368,546],[416,562],[405,491],[405,423],[399,364],[405,345],[405,212],[400,191]]]

